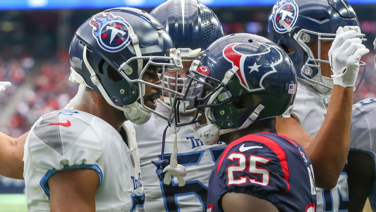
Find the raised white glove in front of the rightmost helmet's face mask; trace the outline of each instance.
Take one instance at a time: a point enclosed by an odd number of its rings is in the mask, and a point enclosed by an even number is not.
[[[370,52],[356,35],[355,30],[344,32],[343,28],[339,27],[328,54],[333,82],[344,88],[355,85],[359,72],[359,60]]]

